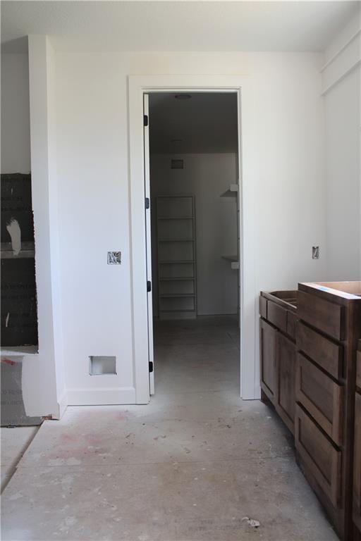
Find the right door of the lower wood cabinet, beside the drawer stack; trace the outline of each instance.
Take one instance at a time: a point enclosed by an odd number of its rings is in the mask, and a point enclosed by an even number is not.
[[[277,400],[276,411],[288,429],[295,431],[295,344],[277,334]]]

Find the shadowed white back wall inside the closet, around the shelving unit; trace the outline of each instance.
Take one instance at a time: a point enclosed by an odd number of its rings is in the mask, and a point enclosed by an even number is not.
[[[152,113],[152,110],[150,111]],[[184,169],[171,169],[171,158]],[[150,160],[152,235],[157,227],[157,195],[194,194],[197,237],[197,313],[237,313],[237,270],[222,255],[237,254],[237,204],[220,197],[238,182],[236,154],[152,154]],[[157,316],[157,259],[153,259],[154,313]]]

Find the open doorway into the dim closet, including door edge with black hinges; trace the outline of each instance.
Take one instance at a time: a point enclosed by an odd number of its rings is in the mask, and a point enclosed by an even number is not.
[[[239,396],[238,94],[149,92],[145,120],[155,390]],[[154,371],[149,388],[154,393]]]

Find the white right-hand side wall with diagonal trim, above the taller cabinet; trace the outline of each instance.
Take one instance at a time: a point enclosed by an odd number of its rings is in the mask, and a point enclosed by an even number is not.
[[[329,280],[361,278],[361,34],[350,41],[360,29],[356,16],[334,37],[322,72]]]

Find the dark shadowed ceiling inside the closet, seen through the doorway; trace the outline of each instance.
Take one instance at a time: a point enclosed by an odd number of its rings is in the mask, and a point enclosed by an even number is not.
[[[237,94],[192,92],[150,94],[150,151],[206,154],[238,150]]]

